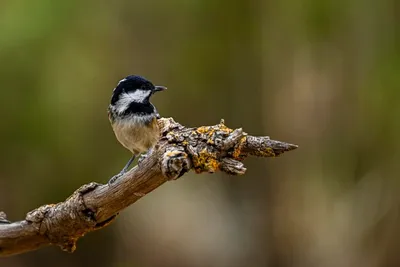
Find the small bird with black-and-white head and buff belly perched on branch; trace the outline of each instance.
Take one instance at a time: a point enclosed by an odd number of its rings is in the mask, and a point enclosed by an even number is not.
[[[166,89],[135,75],[122,79],[115,87],[108,106],[108,118],[118,141],[132,152],[132,157],[121,172],[110,179],[109,185],[127,172],[136,156],[158,142],[160,129],[157,119],[160,115],[150,103],[150,97]]]

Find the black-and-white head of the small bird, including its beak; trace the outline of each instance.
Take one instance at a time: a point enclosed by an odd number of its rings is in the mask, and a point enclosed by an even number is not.
[[[146,104],[149,103],[152,94],[165,89],[167,88],[164,86],[154,86],[153,83],[141,76],[130,75],[119,81],[115,87],[111,105],[115,106],[118,101],[123,100],[122,98],[125,98],[126,101]]]

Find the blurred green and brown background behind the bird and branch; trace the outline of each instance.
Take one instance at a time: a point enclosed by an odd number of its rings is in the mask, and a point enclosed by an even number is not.
[[[106,108],[141,74],[159,112],[296,143],[247,174],[185,175],[88,234],[0,266],[400,266],[400,2],[0,2],[0,210],[106,182]]]

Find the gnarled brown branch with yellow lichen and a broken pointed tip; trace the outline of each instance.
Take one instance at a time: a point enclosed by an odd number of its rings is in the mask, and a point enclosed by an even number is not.
[[[0,212],[0,256],[47,245],[73,252],[80,237],[107,226],[121,210],[191,169],[241,175],[246,171],[242,161],[248,155],[275,157],[297,148],[269,137],[247,135],[242,129],[229,129],[223,120],[198,128],[186,128],[172,118],[160,119],[159,124],[162,137],[156,147],[112,185],[83,185],[64,202],[41,206],[23,221],[11,223]]]

